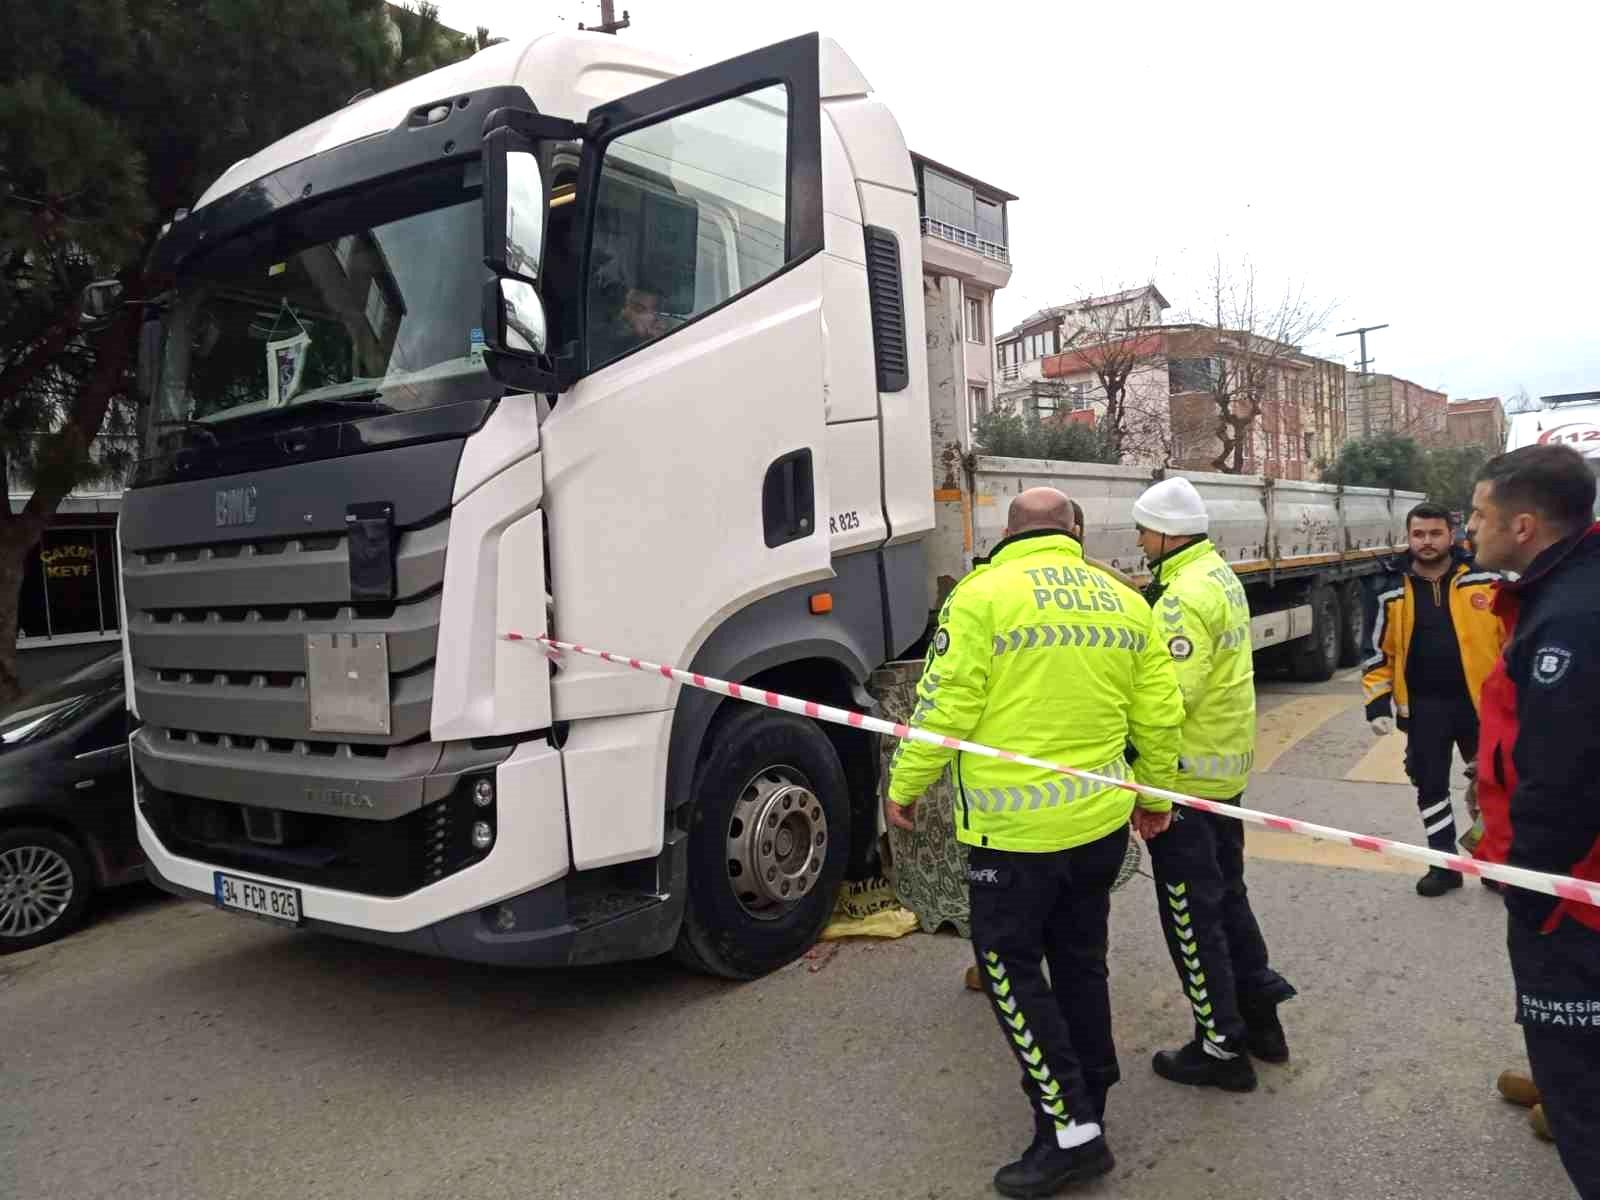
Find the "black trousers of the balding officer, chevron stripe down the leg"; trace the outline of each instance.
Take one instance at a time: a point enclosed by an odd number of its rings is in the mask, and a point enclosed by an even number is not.
[[[1099,1122],[1120,1078],[1106,930],[1126,848],[1123,827],[1072,850],[973,846],[968,859],[978,974],[1040,1130]]]

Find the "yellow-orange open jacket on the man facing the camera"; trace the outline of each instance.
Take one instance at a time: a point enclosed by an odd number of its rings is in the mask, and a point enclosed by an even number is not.
[[[1366,718],[1389,717],[1390,704],[1400,728],[1411,717],[1406,688],[1406,653],[1411,646],[1411,630],[1416,627],[1416,589],[1450,589],[1450,622],[1456,630],[1456,646],[1461,650],[1461,670],[1467,678],[1472,706],[1478,706],[1483,680],[1494,669],[1504,634],[1490,610],[1494,582],[1491,571],[1474,570],[1472,562],[1456,557],[1450,573],[1434,582],[1411,573],[1411,555],[1397,560],[1397,571],[1386,581],[1386,590],[1378,597],[1378,616],[1373,621],[1373,653],[1366,659],[1362,685],[1366,693]]]

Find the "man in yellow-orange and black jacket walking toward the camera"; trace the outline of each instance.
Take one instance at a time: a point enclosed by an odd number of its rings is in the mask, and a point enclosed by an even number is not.
[[[1451,750],[1469,765],[1478,747],[1478,693],[1501,648],[1490,611],[1498,576],[1478,571],[1451,546],[1450,510],[1418,504],[1406,514],[1410,552],[1392,563],[1373,622],[1366,661],[1366,720],[1373,733],[1406,731],[1405,768],[1416,786],[1427,845],[1456,851],[1450,802]],[[1421,896],[1461,886],[1461,872],[1429,867]]]

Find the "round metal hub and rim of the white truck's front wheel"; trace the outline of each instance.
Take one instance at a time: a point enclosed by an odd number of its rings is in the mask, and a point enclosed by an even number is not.
[[[744,910],[779,917],[816,886],[827,858],[827,816],[798,771],[750,779],[728,821],[728,883]]]

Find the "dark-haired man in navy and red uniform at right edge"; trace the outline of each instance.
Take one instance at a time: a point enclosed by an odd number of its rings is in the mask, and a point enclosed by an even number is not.
[[[1571,446],[1490,459],[1472,493],[1478,562],[1509,640],[1483,685],[1477,858],[1600,880],[1600,523]],[[1506,888],[1517,1022],[1562,1165],[1600,1200],[1600,909]]]

